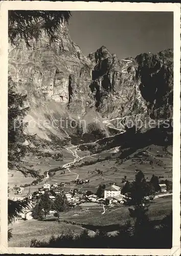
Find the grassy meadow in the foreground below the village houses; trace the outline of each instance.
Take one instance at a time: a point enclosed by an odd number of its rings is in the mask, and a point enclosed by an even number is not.
[[[149,207],[151,220],[163,219],[172,209],[172,197],[155,199]],[[107,210],[107,209],[106,209]],[[37,240],[49,240],[51,235],[58,236],[62,231],[69,229],[74,233],[80,233],[84,228],[96,231],[98,228],[111,232],[124,225],[130,219],[128,207],[121,206],[101,215],[102,208],[75,209],[61,215],[60,223],[54,219],[50,221],[27,220],[14,223],[12,226],[13,237],[9,247],[28,247],[33,238]],[[69,222],[75,222],[75,225]]]

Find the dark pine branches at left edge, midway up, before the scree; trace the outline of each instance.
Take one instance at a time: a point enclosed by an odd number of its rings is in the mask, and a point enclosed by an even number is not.
[[[22,159],[27,153],[34,153],[31,146],[35,135],[25,133],[27,122],[24,117],[29,108],[25,107],[27,95],[16,91],[12,78],[8,78],[8,168],[16,169],[25,176],[29,173],[27,168],[22,166]]]

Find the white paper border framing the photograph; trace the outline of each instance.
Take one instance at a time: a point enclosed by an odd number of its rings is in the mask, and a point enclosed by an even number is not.
[[[165,11],[174,13],[173,246],[171,249],[87,249],[8,247],[8,10]],[[1,253],[65,255],[180,255],[180,4],[126,2],[2,1],[0,3]]]

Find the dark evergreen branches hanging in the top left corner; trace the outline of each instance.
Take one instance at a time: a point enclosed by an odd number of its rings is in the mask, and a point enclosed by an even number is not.
[[[53,41],[60,24],[69,22],[71,17],[70,11],[11,10],[8,14],[9,41],[15,45],[20,38],[25,40],[27,47],[30,47],[30,40],[38,40],[43,32]]]

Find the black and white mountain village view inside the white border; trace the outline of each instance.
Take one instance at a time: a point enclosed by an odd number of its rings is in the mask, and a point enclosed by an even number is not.
[[[8,10],[8,248],[171,249],[174,11],[68,6]]]

